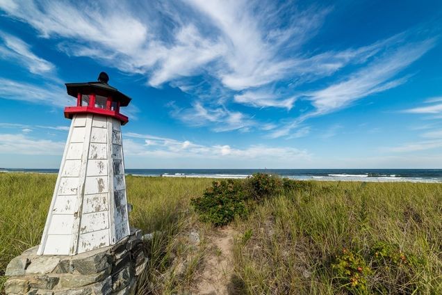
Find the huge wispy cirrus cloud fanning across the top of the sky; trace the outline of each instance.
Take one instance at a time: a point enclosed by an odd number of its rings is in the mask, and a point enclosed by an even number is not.
[[[3,0],[0,9],[42,38],[60,40],[58,48],[69,55],[143,75],[149,86],[171,83],[190,93],[190,102],[177,102],[170,112],[188,125],[259,128],[272,138],[293,137],[309,118],[406,83],[400,72],[436,42],[404,31],[359,47],[306,50],[334,8],[273,1],[111,0],[86,7]],[[312,110],[294,115],[300,100]],[[261,128],[253,110],[238,111],[237,105],[285,109],[285,118]]]

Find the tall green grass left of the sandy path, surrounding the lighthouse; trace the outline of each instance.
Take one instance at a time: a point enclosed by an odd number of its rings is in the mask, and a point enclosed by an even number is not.
[[[8,262],[40,243],[55,182],[56,175],[0,173],[0,290],[6,280]],[[176,238],[195,219],[189,212],[190,198],[201,195],[210,183],[207,179],[126,177],[128,199],[133,204],[129,214],[131,226],[145,233],[155,232],[154,238],[146,243],[149,271],[140,282],[145,294],[160,294],[166,287],[174,290],[181,283],[170,283],[172,279],[167,281],[162,275],[171,265],[170,255],[176,255],[177,247],[182,246]],[[181,252],[199,255],[188,249]],[[190,275],[185,279],[190,281]]]

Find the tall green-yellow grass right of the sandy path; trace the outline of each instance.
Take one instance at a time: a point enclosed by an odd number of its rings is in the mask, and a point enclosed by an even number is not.
[[[249,236],[234,247],[247,294],[442,294],[441,184],[321,182],[269,198],[237,227]],[[379,267],[379,242],[404,263]],[[349,253],[373,271],[365,290],[332,267]]]

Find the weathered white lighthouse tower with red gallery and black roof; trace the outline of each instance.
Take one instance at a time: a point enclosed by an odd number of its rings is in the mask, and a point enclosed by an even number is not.
[[[99,81],[67,83],[76,106],[38,254],[76,255],[129,235],[120,113],[131,99]]]

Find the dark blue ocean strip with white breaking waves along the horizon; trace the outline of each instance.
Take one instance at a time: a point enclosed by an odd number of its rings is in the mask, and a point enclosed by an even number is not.
[[[2,171],[58,173],[58,169],[0,168]],[[442,169],[126,169],[126,175],[162,177],[245,178],[259,172],[293,180],[442,183]]]

